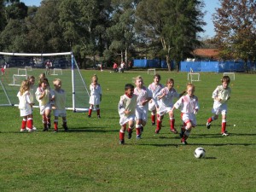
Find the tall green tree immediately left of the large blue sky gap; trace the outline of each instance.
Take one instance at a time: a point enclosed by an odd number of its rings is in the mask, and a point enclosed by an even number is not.
[[[137,8],[137,31],[148,39],[147,43],[160,42],[160,53],[166,56],[168,70],[171,57],[177,64],[200,44],[197,33],[203,32],[201,8],[196,0],[143,0]]]

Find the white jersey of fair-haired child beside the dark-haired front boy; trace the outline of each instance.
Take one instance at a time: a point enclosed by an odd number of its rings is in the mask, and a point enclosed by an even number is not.
[[[134,89],[134,95],[137,95],[137,108],[148,108],[148,103],[143,106],[143,102],[147,98],[152,98],[152,92],[146,87],[142,87],[141,90],[138,90],[137,87]]]

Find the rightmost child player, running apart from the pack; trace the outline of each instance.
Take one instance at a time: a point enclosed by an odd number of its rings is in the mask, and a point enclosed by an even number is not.
[[[221,134],[222,136],[229,136],[229,133],[226,131],[226,116],[228,111],[227,102],[230,99],[231,89],[229,87],[230,77],[224,76],[221,79],[222,85],[218,85],[217,88],[212,92],[213,108],[212,113],[213,116],[207,119],[207,128],[211,128],[211,123],[213,120],[218,119],[218,115],[222,114],[222,126],[221,126]]]

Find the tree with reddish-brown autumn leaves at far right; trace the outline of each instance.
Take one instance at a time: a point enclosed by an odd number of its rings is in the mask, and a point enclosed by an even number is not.
[[[213,15],[215,40],[224,60],[245,61],[256,53],[256,2],[254,0],[220,0]]]

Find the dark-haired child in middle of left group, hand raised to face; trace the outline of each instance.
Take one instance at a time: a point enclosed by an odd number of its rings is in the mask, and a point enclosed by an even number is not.
[[[39,102],[40,114],[43,117],[44,131],[48,131],[50,128],[51,96],[48,84],[48,79],[40,79],[39,87],[36,91],[36,98]]]

